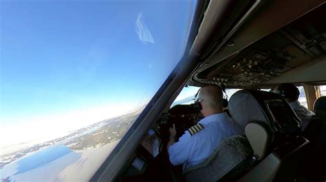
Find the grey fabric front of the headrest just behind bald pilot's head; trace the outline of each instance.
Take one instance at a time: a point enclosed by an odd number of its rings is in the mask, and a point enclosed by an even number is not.
[[[247,90],[239,90],[231,96],[228,110],[235,124],[243,131],[243,134],[249,122],[262,121],[268,124],[267,117],[261,106]]]

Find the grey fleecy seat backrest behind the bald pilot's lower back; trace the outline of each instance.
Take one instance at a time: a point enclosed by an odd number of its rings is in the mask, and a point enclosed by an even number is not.
[[[217,181],[243,160],[252,156],[252,148],[246,138],[235,135],[226,138],[214,153],[201,164],[191,166],[184,172],[186,181]]]

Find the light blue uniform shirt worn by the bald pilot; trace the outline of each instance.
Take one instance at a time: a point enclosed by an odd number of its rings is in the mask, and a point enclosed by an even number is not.
[[[221,140],[233,135],[241,135],[241,130],[225,112],[207,116],[199,123],[204,129],[194,135],[186,131],[179,142],[170,146],[170,161],[174,166],[184,164],[185,170],[199,164],[213,153]]]

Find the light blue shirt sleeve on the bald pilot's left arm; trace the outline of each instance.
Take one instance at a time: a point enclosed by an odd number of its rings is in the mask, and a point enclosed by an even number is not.
[[[171,164],[177,166],[186,162],[188,160],[189,146],[191,146],[191,134],[186,131],[179,138],[179,142],[175,142],[175,144],[169,147]]]

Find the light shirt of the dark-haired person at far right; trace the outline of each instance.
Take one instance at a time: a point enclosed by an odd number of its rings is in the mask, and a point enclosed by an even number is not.
[[[312,116],[315,115],[315,113],[301,105],[299,101],[294,101],[289,104],[296,113],[296,116],[301,119],[301,130],[305,130],[305,127],[307,127],[309,121],[311,120]]]

